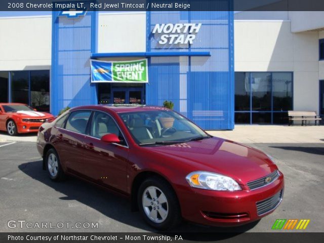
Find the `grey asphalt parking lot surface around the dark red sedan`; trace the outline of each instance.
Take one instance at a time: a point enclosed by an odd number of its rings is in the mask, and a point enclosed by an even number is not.
[[[276,219],[310,219],[305,231],[324,231],[324,143],[249,144],[272,155],[285,174],[284,199],[261,221],[241,227],[214,228],[183,223],[178,232],[270,232]],[[1,232],[143,232],[154,231],[128,200],[86,182],[69,178],[52,182],[42,170],[34,142],[0,142]],[[8,221],[25,220],[33,228],[9,228]],[[70,222],[70,228],[34,227],[34,223]],[[98,222],[97,228],[75,228],[76,222]],[[52,226],[53,226],[52,225]],[[80,225],[78,225],[80,226]],[[88,225],[86,225],[87,227]],[[73,228],[72,228],[73,227]]]

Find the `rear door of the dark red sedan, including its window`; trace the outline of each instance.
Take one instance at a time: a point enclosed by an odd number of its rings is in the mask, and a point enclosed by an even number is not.
[[[57,128],[55,145],[61,163],[68,172],[78,176],[84,174],[84,141],[91,113],[91,110],[72,111],[64,126]]]

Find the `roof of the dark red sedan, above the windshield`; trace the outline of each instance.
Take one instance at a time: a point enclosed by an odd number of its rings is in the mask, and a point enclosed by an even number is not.
[[[153,106],[153,105],[133,105],[133,104],[108,104],[108,105],[88,105],[88,106],[78,106],[74,107],[73,110],[78,109],[96,109],[96,108],[105,108],[111,110],[116,113],[121,112],[134,112],[134,111],[149,111],[149,110],[168,110],[167,108],[161,106]]]

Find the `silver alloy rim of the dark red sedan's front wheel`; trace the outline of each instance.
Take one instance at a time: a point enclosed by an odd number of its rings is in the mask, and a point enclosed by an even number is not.
[[[146,216],[154,223],[161,223],[168,217],[168,199],[163,191],[155,186],[144,190],[142,205]]]

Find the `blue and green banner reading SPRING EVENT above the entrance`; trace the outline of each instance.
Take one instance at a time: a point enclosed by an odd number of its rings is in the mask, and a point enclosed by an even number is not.
[[[91,62],[91,83],[148,83],[147,59]]]

